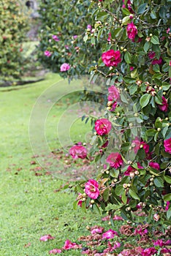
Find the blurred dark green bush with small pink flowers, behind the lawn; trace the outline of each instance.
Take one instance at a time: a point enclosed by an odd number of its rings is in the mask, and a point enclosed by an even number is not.
[[[92,62],[100,57],[94,37],[87,38],[86,44],[83,40],[85,31],[92,30],[89,5],[90,1],[77,0],[46,0],[40,4],[39,60],[64,78],[88,74]]]

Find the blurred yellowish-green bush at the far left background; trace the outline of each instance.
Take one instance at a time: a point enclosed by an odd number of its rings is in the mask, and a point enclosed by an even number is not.
[[[26,41],[28,16],[16,0],[1,0],[0,14],[0,80],[12,80],[23,72],[22,44]]]

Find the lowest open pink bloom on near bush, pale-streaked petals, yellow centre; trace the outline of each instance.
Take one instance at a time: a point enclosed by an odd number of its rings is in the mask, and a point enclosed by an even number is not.
[[[91,199],[96,199],[97,197],[99,197],[99,184],[94,179],[90,179],[85,184],[85,189],[86,195],[88,195],[88,197],[91,197]]]

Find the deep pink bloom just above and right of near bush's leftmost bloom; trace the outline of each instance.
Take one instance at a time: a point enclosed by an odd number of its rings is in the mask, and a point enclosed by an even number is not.
[[[95,121],[94,128],[98,135],[107,135],[112,129],[112,124],[108,119],[101,118]]]

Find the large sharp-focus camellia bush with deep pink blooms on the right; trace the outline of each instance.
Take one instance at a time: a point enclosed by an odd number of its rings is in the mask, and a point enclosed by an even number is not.
[[[76,145],[72,158],[94,159],[96,177],[76,186],[75,208],[107,212],[111,221],[144,213],[171,220],[170,1],[91,1],[101,57],[91,74],[107,80],[107,111],[94,120],[94,146]]]

